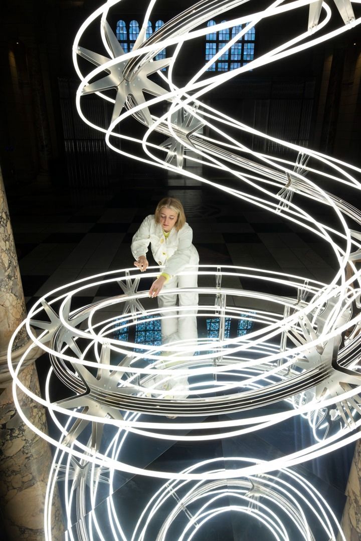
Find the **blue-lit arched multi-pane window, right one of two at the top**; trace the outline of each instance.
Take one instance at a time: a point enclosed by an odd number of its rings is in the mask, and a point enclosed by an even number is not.
[[[224,22],[224,21],[222,21]],[[215,21],[208,21],[207,26],[212,27]],[[232,38],[241,31],[239,24],[232,28]],[[229,41],[229,29],[225,28],[206,35],[206,61],[211,60],[216,51],[219,51]],[[209,66],[208,71],[229,71],[240,68],[242,65],[251,62],[254,58],[255,29],[251,28],[242,36],[231,49],[222,54],[216,62]]]

